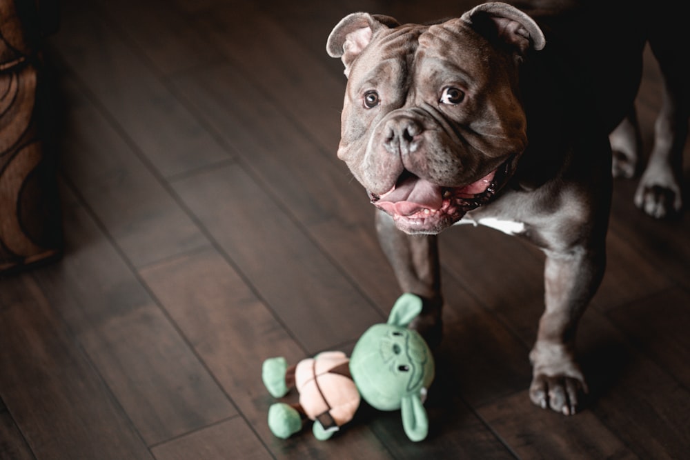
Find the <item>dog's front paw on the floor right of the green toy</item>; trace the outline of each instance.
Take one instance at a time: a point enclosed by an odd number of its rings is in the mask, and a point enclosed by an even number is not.
[[[530,354],[534,366],[529,398],[542,409],[565,415],[578,412],[588,392],[580,366],[562,345],[535,346]]]

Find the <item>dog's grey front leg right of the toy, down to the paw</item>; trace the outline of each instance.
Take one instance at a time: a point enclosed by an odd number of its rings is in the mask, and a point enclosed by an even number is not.
[[[533,380],[529,391],[533,403],[542,408],[574,414],[579,395],[587,392],[584,376],[575,361],[575,332],[600,285],[604,265],[603,247],[546,251],[546,310],[530,353]]]

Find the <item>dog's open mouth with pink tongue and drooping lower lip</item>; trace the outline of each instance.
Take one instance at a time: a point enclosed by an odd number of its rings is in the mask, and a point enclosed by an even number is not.
[[[369,199],[390,214],[400,230],[435,234],[462,219],[466,212],[491,201],[508,179],[512,159],[462,187],[437,186],[404,172],[391,190],[382,195],[368,192]]]

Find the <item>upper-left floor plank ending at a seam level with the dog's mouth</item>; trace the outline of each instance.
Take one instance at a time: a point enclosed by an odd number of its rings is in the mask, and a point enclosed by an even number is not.
[[[230,158],[92,2],[64,3],[51,49],[160,174],[170,177]]]

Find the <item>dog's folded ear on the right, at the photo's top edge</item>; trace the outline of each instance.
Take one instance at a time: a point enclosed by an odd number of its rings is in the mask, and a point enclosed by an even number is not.
[[[529,48],[541,50],[546,45],[544,32],[537,23],[508,3],[482,3],[463,14],[461,19],[484,37],[495,37],[515,46],[520,55],[524,55]]]

